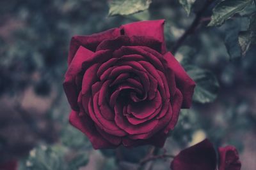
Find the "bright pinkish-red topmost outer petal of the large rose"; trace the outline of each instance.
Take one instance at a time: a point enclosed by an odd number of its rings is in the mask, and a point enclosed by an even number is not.
[[[120,27],[125,36],[151,36],[162,43],[162,54],[166,53],[164,41],[164,20],[132,22]]]

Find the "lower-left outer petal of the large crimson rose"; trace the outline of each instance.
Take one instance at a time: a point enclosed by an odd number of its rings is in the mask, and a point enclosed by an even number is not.
[[[86,134],[86,136],[90,139],[93,148],[100,149],[100,148],[114,148],[115,146],[109,143],[106,139],[100,136],[99,132],[95,128],[93,121],[90,117],[86,114],[79,115],[76,111],[71,111],[69,122],[74,127],[79,129],[81,132]]]

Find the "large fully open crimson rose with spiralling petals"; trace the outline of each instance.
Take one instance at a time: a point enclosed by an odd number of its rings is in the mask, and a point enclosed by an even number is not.
[[[63,87],[70,123],[95,149],[163,146],[195,83],[166,52],[164,20],[74,36]]]

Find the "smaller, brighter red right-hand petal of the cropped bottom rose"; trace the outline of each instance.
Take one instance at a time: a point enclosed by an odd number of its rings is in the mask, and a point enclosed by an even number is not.
[[[220,166],[219,170],[240,170],[241,162],[236,148],[234,146],[226,146],[219,148]]]

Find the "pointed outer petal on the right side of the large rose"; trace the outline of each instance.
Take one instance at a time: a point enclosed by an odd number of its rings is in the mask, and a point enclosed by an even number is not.
[[[164,55],[164,59],[167,62],[167,67],[175,73],[177,88],[180,90],[183,96],[182,108],[190,108],[195,82],[188,76],[183,67],[180,66],[179,62],[175,59],[172,53],[166,53]]]

